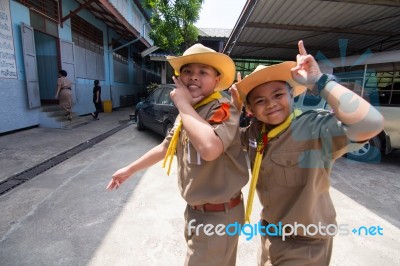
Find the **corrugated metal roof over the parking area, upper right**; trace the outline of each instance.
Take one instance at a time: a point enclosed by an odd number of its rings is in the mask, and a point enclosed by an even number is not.
[[[340,57],[341,51],[400,50],[400,3],[248,0],[224,52],[232,58],[294,60],[299,40],[309,53],[327,58]]]

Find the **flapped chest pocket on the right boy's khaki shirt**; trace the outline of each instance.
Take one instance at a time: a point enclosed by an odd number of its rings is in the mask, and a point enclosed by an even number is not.
[[[304,151],[271,154],[272,179],[284,187],[304,186],[307,176],[300,167],[304,158]]]

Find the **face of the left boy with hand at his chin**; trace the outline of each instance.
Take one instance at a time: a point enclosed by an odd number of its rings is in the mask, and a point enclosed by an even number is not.
[[[182,67],[180,78],[192,97],[196,98],[211,95],[219,83],[220,75],[211,66],[193,63]]]

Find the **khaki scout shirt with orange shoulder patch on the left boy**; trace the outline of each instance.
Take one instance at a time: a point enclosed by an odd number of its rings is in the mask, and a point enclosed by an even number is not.
[[[221,98],[196,111],[208,121],[222,103],[229,102]],[[214,161],[204,161],[200,157],[187,136],[185,125],[182,127],[176,150],[178,182],[181,195],[189,205],[229,202],[248,181],[248,168],[239,133],[240,112],[232,105],[229,112],[227,120],[211,124],[224,145],[224,152]],[[166,138],[166,147],[175,127]]]

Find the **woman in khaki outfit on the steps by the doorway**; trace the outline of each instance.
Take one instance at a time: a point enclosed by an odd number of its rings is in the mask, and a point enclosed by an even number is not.
[[[65,110],[68,120],[72,120],[72,91],[71,81],[67,78],[67,71],[58,71],[57,92],[55,98],[58,99],[58,104]]]

